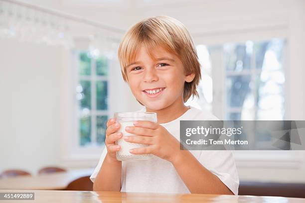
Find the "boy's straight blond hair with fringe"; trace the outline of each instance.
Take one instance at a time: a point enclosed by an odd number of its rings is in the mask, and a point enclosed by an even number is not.
[[[118,51],[125,82],[128,82],[127,66],[135,60],[142,44],[147,50],[161,46],[175,54],[183,64],[184,75],[195,74],[193,81],[184,83],[183,101],[186,102],[191,96],[199,97],[196,89],[201,79],[200,64],[193,39],[180,21],[168,16],[155,16],[138,22],[128,30]]]

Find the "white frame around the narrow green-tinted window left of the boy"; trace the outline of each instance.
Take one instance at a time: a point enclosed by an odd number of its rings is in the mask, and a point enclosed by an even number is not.
[[[105,144],[101,146],[79,145],[79,117],[76,86],[78,85],[78,54],[75,50],[62,49],[62,90],[61,90],[61,120],[60,120],[60,156],[59,163],[66,167],[95,167],[100,159]],[[112,94],[113,68],[118,65],[115,59],[108,59],[108,101],[114,100]],[[108,103],[108,117],[113,114],[113,105]]]

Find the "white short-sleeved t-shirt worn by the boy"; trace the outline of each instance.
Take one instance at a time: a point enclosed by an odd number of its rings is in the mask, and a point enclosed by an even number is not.
[[[184,114],[175,120],[161,123],[177,140],[180,140],[180,120],[218,120],[209,112],[189,106]],[[141,111],[146,111],[144,107]],[[210,172],[215,174],[235,195],[238,194],[239,178],[231,151],[190,150],[192,155]],[[106,157],[105,147],[100,161],[90,179],[94,182]],[[144,161],[123,161],[121,192],[144,193],[190,193],[173,165],[153,156]]]

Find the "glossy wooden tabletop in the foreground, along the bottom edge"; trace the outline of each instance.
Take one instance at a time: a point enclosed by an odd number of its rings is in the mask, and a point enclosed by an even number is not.
[[[35,193],[35,200],[0,203],[305,203],[305,199],[259,196],[0,190],[0,193],[12,192]]]

